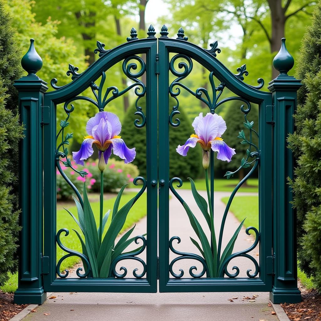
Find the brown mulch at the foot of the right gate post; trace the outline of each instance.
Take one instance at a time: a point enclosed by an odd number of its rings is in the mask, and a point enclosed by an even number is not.
[[[321,294],[316,290],[302,292],[302,302],[281,304],[285,313],[293,321],[321,321]]]

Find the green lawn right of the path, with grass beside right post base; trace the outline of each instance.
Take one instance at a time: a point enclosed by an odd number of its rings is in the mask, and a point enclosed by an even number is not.
[[[227,204],[229,201],[228,197],[223,197],[222,202]],[[236,196],[234,197],[230,211],[235,215],[235,217],[241,222],[246,217],[244,226],[254,226],[259,228],[258,219],[258,196]],[[307,289],[313,289],[313,281],[308,278],[306,274],[299,270],[298,268],[298,278],[302,285]]]

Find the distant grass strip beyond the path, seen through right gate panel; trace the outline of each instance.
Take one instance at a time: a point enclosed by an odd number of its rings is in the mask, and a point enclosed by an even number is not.
[[[196,189],[199,191],[205,191],[206,190],[206,184],[205,179],[195,179],[194,181]],[[215,179],[214,181],[214,190],[219,192],[232,192],[233,189],[236,187],[236,185],[239,183],[238,179],[232,178],[232,179]],[[174,183],[175,187],[176,182]],[[247,180],[247,186],[246,187],[240,187],[240,192],[251,192],[251,193],[257,193],[258,192],[258,180],[256,178],[249,178]],[[181,189],[191,189],[191,183],[189,181],[184,182]]]

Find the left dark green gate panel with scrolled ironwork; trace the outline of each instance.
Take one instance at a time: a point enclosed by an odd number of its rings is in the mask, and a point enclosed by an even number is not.
[[[133,38],[133,35],[131,35]],[[99,49],[99,50],[98,50]],[[44,126],[44,261],[48,262],[48,269],[44,274],[45,291],[86,291],[86,292],[156,292],[157,291],[157,75],[155,73],[155,59],[157,53],[156,38],[143,39],[121,45],[112,50],[105,50],[102,46],[98,46],[97,51],[100,52],[101,58],[91,65],[85,72],[78,74],[73,66],[70,67],[70,74],[73,76],[73,82],[66,86],[57,87],[56,81],[52,82],[56,91],[49,92],[44,97],[44,105],[48,106],[50,120],[48,125]],[[146,64],[139,55],[146,55]],[[104,88],[104,80],[110,67],[123,62],[123,71],[129,78],[128,87],[123,91],[115,87]],[[141,68],[141,69],[140,69]],[[138,78],[146,74],[146,84],[143,84]],[[97,80],[100,81],[97,82]],[[95,83],[96,81],[96,83]],[[141,84],[141,85],[140,85]],[[106,87],[106,86],[105,86]],[[82,91],[91,88],[94,94],[93,98],[82,96]],[[64,154],[64,145],[59,150],[56,143],[56,110],[62,108],[59,104],[64,104],[66,112],[65,122],[77,121],[73,120],[72,112],[76,109],[76,100],[87,100],[92,102],[98,111],[108,111],[108,101],[118,99],[122,101],[122,95],[127,91],[133,91],[136,95],[136,112],[139,120],[132,124],[133,128],[146,128],[146,177],[137,177],[134,184],[142,182],[138,185],[140,192],[136,195],[136,199],[140,197],[144,190],[147,193],[147,236],[137,236],[135,242],[139,248],[134,254],[117,256],[112,262],[108,278],[90,277],[92,274],[86,275],[84,271],[77,270],[76,277],[65,276],[60,272],[60,264],[64,258],[75,255],[83,259],[81,253],[77,253],[74,249],[64,247],[65,239],[68,232],[60,229],[56,234],[56,170],[64,176],[64,169],[59,165],[61,160],[67,161]],[[109,92],[107,99],[103,99],[106,92]],[[139,100],[146,97],[146,110],[140,108]],[[105,98],[106,98],[105,97]],[[96,100],[95,100],[96,99]],[[71,104],[74,102],[75,107]],[[106,106],[107,105],[107,106]],[[69,118],[70,115],[70,118]],[[60,119],[57,119],[59,122]],[[63,124],[64,125],[64,124]],[[66,126],[67,127],[67,126]],[[65,129],[65,134],[68,128]],[[62,133],[63,134],[63,133]],[[64,134],[64,135],[65,135]],[[63,140],[65,139],[65,136]],[[61,140],[61,138],[59,138]],[[60,142],[62,143],[62,142]],[[134,147],[134,146],[128,146]],[[70,156],[69,156],[70,157]],[[68,161],[67,161],[68,162]],[[65,163],[64,163],[65,164]],[[66,165],[66,164],[65,164]],[[73,164],[71,164],[73,166]],[[66,165],[67,166],[67,165]],[[68,167],[68,166],[67,166]],[[81,167],[81,166],[80,166]],[[74,169],[76,172],[83,170]],[[80,171],[80,174],[82,172]],[[70,183],[68,183],[70,184]],[[70,184],[71,185],[71,184]],[[71,186],[72,187],[72,186]],[[73,188],[74,189],[74,188]],[[81,195],[77,194],[79,202],[82,203]],[[119,207],[120,208],[120,207]],[[66,212],[66,215],[68,213]],[[73,233],[74,231],[69,231]],[[135,230],[131,237],[135,237]],[[142,233],[143,234],[143,233]],[[137,234],[139,235],[139,234]],[[59,262],[56,262],[57,246],[65,250],[66,255]],[[142,247],[141,247],[142,246]],[[146,261],[138,258],[140,252],[146,253]],[[125,251],[122,251],[125,252]],[[125,278],[127,274],[126,261],[122,265],[119,262],[123,260],[134,260],[137,268],[133,271],[135,277]],[[117,265],[117,266],[116,266]],[[118,270],[120,269],[120,272]],[[128,269],[129,270],[129,269]],[[87,269],[87,271],[89,271]],[[92,271],[90,271],[91,273]],[[132,271],[128,271],[128,275]],[[83,277],[85,274],[86,277]]]

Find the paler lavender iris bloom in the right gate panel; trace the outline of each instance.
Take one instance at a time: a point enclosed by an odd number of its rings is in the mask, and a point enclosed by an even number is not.
[[[203,117],[203,113],[200,113],[195,117],[192,126],[195,134],[192,134],[183,146],[178,145],[176,148],[178,154],[186,156],[189,148],[195,147],[199,143],[203,151],[207,152],[212,149],[217,152],[217,159],[231,161],[235,149],[230,148],[221,138],[226,130],[226,123],[221,116],[207,113]]]

